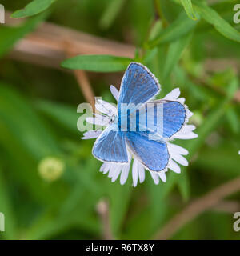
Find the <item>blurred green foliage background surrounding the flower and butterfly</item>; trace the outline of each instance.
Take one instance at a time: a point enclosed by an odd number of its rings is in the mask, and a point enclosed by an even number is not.
[[[1,4],[13,12],[29,2]],[[190,202],[240,177],[240,24],[233,22],[238,1],[192,1],[191,9],[191,1],[42,0],[41,14],[34,2],[20,26],[0,24],[1,239],[155,238]],[[131,175],[121,186],[98,171],[94,140],[82,141],[77,130],[77,106],[86,98],[74,73],[61,70],[61,62],[56,69],[13,54],[18,40],[44,20],[134,46],[134,60],[162,84],[160,98],[180,88],[199,135],[176,141],[190,151],[182,174],[169,171],[158,186],[146,174],[134,188]],[[101,63],[95,71],[86,71],[94,94],[114,102],[109,86],[119,88],[123,73],[105,72]],[[240,238],[233,230],[240,193],[226,195],[214,206],[206,199],[204,210],[168,238]]]

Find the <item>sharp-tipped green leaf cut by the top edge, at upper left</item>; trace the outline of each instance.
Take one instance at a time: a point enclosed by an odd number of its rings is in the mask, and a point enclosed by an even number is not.
[[[16,10],[11,17],[12,18],[26,18],[36,14],[40,14],[43,10],[50,7],[56,0],[34,0],[30,2],[24,9]]]

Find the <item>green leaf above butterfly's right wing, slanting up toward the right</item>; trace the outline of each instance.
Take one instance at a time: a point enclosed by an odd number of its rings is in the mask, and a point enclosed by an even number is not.
[[[193,21],[182,13],[178,18],[167,26],[165,30],[158,35],[157,38],[146,43],[146,48],[154,48],[162,43],[172,42],[182,36],[188,34],[197,25],[198,21]]]

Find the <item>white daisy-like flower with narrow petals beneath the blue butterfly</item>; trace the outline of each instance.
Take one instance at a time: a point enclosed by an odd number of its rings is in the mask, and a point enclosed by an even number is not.
[[[110,91],[113,94],[114,98],[118,102],[119,91],[114,86],[110,86]],[[179,88],[172,90],[169,94],[166,95],[164,100],[170,101],[177,101],[184,105],[185,98],[178,98],[180,95]],[[187,125],[189,118],[193,115],[190,110],[188,110],[187,106],[184,105],[186,108],[186,121],[182,126],[181,130],[179,130],[176,134],[174,134],[170,140],[174,138],[180,139],[190,139],[190,138],[197,138],[198,134],[194,133],[195,126],[194,125]],[[109,126],[110,121],[118,114],[118,110],[112,104],[105,102],[103,100],[98,100],[95,104],[96,110],[102,114],[94,114],[94,118],[86,118],[87,122],[91,124],[99,125],[99,126]],[[102,130],[90,130],[83,134],[82,139],[90,139],[90,138],[98,138],[98,136],[102,133]],[[134,158],[134,154],[129,151],[130,161],[128,163],[117,163],[117,162],[104,162],[100,168],[100,171],[103,174],[108,174],[108,177],[111,178],[112,182],[115,182],[118,177],[120,177],[120,184],[123,185],[130,173],[130,166],[132,163],[132,180],[133,186],[137,186],[138,182],[142,183],[145,180],[146,172],[149,172],[151,177],[154,180],[155,184],[158,184],[160,180],[162,182],[166,182],[166,171],[168,169],[173,170],[175,173],[180,173],[181,169],[178,164],[182,166],[188,166],[188,162],[183,155],[188,154],[188,151],[181,146],[174,145],[169,141],[166,142],[167,148],[170,154],[170,161],[166,166],[165,170],[161,170],[159,172],[154,172],[150,170],[146,170],[146,167],[142,165],[141,162],[138,161],[137,158]]]

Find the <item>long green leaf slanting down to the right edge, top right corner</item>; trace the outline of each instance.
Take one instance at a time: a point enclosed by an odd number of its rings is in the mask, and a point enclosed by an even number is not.
[[[206,20],[206,22],[212,24],[219,33],[224,37],[240,42],[240,33],[235,30],[233,26],[230,26],[225,19],[223,19],[214,9],[206,6],[205,3],[194,1],[195,10],[198,14]]]

